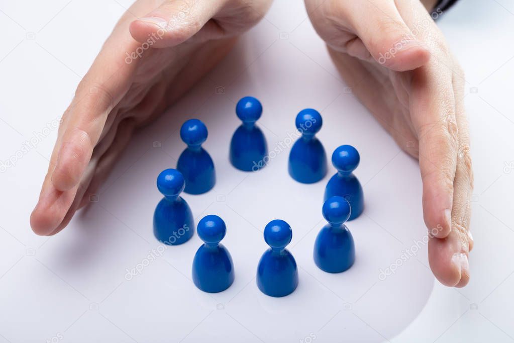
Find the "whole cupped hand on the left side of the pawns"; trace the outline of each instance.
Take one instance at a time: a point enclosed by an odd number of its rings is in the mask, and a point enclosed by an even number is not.
[[[117,23],[63,115],[33,231],[62,230],[95,193],[134,129],[221,60],[271,0],[138,0]]]

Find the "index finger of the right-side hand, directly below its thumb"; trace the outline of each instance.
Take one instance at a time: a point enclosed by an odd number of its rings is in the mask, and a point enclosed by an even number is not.
[[[435,60],[413,72],[411,116],[419,139],[425,224],[437,238],[451,230],[453,180],[458,149],[451,75]]]

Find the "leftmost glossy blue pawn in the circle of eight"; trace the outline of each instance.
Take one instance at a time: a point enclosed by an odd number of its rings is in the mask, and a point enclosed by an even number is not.
[[[193,236],[193,214],[179,195],[185,181],[176,169],[163,170],[157,177],[157,188],[164,195],[154,212],[154,235],[164,244],[186,243]]]

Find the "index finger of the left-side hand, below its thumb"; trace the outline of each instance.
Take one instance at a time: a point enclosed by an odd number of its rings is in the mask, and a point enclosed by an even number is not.
[[[136,42],[128,43],[130,49]],[[137,61],[124,62],[118,43],[110,39],[80,82],[76,103],[67,114],[66,130],[52,174],[60,191],[77,185],[103,131],[107,115],[126,93]]]

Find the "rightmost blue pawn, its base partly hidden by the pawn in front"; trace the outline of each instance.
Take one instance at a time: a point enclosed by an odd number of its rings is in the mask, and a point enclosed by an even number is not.
[[[337,173],[328,180],[325,188],[325,198],[339,195],[344,197],[352,208],[350,219],[357,218],[364,209],[364,194],[359,180],[353,171],[359,165],[360,156],[352,146],[340,146],[332,154],[332,164],[337,169]]]

